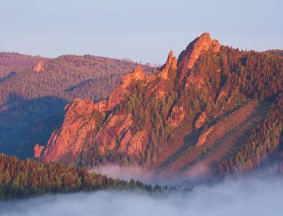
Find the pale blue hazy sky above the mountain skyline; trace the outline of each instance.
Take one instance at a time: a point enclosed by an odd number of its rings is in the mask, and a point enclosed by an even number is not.
[[[282,0],[1,0],[0,52],[163,64],[210,33],[242,50],[283,49]]]

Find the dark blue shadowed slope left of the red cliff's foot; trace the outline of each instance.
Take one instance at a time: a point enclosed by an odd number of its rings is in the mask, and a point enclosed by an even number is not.
[[[16,98],[13,94],[11,97]],[[15,100],[12,100],[15,101]],[[33,156],[35,143],[46,143],[51,132],[62,124],[64,106],[62,98],[45,96],[24,99],[0,108],[0,152],[21,159]]]

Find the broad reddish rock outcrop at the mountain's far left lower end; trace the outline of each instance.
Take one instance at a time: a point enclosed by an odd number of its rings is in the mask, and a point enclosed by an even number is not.
[[[46,147],[35,145],[35,157],[40,157],[42,161],[77,156],[93,143],[92,134],[96,134],[100,118],[93,101],[76,99],[65,110],[62,127],[52,132]]]

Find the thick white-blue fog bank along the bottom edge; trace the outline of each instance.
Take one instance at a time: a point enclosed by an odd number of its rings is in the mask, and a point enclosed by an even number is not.
[[[166,197],[147,193],[98,191],[45,195],[0,203],[0,215],[282,215],[280,178],[226,180]]]

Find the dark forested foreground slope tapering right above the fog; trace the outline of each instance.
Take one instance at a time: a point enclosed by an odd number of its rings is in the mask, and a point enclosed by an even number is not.
[[[83,168],[62,164],[42,164],[32,159],[21,161],[0,154],[0,200],[27,198],[43,193],[69,193],[98,190],[139,190],[153,193],[177,191],[175,187],[154,187],[140,181],[108,178]],[[188,188],[182,188],[188,190]]]

